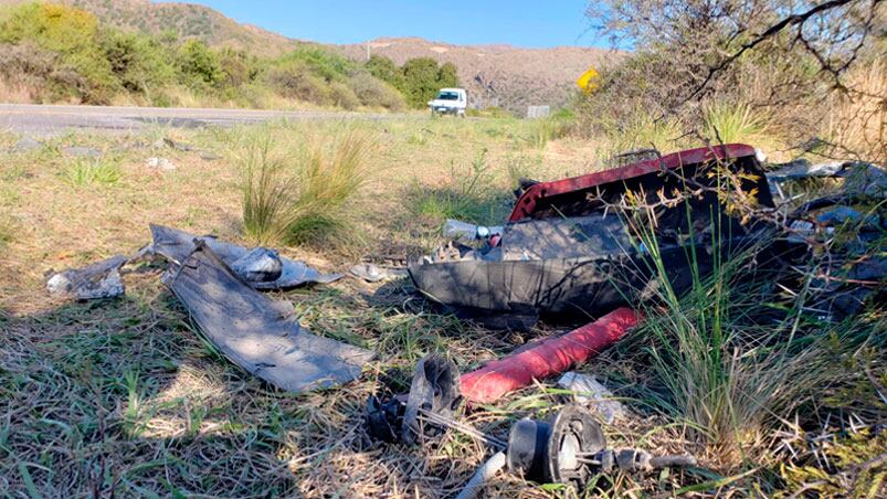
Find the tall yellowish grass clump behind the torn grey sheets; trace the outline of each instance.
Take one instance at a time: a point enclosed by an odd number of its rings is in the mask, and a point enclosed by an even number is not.
[[[347,229],[344,206],[366,180],[373,144],[350,131],[288,149],[267,138],[247,146],[241,159],[244,233],[258,244],[307,244]]]

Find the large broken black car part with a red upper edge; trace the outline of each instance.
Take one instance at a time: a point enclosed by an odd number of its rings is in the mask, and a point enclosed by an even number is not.
[[[689,248],[700,274],[722,252],[759,237],[756,223],[730,216],[718,198],[718,169],[739,179],[737,189],[758,206],[773,206],[761,166],[750,146],[693,149],[613,170],[528,185],[500,237],[479,248],[411,262],[410,276],[422,294],[457,316],[494,325],[499,315],[532,323],[539,314],[603,315],[634,304],[655,278],[648,254],[620,213],[626,197],[662,204],[659,193],[700,192],[686,203],[657,208],[655,237],[676,293],[691,285]],[[719,222],[720,221],[720,222]]]

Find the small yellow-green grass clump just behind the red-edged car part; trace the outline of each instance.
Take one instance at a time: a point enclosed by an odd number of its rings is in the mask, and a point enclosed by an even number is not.
[[[772,127],[761,110],[745,103],[716,103],[703,108],[704,134],[714,144],[771,144]]]

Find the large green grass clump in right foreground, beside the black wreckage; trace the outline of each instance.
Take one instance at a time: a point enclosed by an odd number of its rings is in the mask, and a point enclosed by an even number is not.
[[[655,283],[645,288],[651,296],[638,304],[645,318],[634,332],[645,352],[645,397],[685,423],[719,468],[733,470],[765,458],[769,432],[845,380],[848,373],[837,359],[847,358],[878,326],[862,316],[837,325],[822,322],[807,311],[816,307],[806,302],[804,291],[788,306],[762,300],[773,296],[773,270],[759,266],[772,234],[736,247],[719,235],[728,232],[720,230],[728,221],[717,213],[703,229],[712,234],[710,246],[685,247],[691,284],[679,293],[672,280],[675,264],[667,263],[675,256],[666,257],[656,237],[661,222],[652,210],[634,213],[627,223],[647,252],[641,265],[648,265]],[[699,238],[699,227],[679,229],[689,241]],[[709,258],[710,267],[703,263]],[[809,285],[814,273],[799,278]]]

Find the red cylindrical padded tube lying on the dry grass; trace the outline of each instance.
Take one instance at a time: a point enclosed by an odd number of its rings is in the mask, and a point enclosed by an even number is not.
[[[619,308],[567,335],[489,362],[460,378],[462,395],[469,403],[494,402],[508,392],[529,386],[532,380],[562,373],[619,341],[638,320],[634,310]]]

